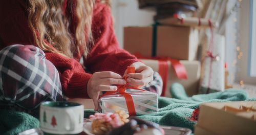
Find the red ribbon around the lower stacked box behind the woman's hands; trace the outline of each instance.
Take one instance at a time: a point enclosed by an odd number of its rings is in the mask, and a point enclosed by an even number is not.
[[[158,60],[158,66],[159,66],[158,73],[163,79],[163,89],[162,89],[161,96],[165,96],[165,92],[166,92],[166,86],[168,81],[168,61],[172,63],[175,74],[179,79],[187,79],[187,72],[186,72],[185,66],[179,60],[171,59],[168,57],[143,57],[139,53],[136,53],[135,56],[139,59]]]

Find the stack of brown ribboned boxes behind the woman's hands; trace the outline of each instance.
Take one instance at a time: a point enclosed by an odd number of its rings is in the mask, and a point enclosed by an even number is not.
[[[147,1],[140,1],[140,3],[145,7]],[[157,14],[156,16],[161,15]],[[170,14],[170,16],[172,16],[172,14]],[[159,61],[154,60],[155,57],[168,57],[180,60],[180,62],[185,66],[187,79],[178,79],[173,67],[171,66],[172,63],[169,62],[165,96],[171,97],[169,89],[175,82],[181,83],[189,96],[197,94],[201,67],[200,62],[196,61],[199,44],[198,29],[189,26],[162,25],[158,24],[159,21],[160,20],[156,20],[156,24],[153,26],[125,27],[124,49],[132,54],[139,54],[146,58],[142,58],[141,60],[157,72],[159,72]]]

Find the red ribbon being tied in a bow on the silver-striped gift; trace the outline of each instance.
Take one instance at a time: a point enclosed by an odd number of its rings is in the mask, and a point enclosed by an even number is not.
[[[130,74],[130,73],[135,73],[135,67],[134,66],[128,66],[127,67],[127,74]],[[124,76],[124,80],[127,80],[127,76]],[[125,92],[125,90],[127,88],[138,89],[138,90],[145,91],[144,89],[128,86],[128,83],[126,83],[124,85],[119,85],[117,87],[116,92],[106,92],[101,97],[106,96],[106,95],[116,95],[116,94],[122,95],[125,99],[129,115],[130,116],[135,116],[136,115],[136,110],[135,110],[135,106],[134,106],[134,102],[133,102],[133,97],[129,93]]]

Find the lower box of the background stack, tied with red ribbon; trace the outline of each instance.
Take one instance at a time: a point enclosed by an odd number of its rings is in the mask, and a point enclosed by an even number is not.
[[[144,62],[146,65],[150,66],[154,71],[159,70],[158,67],[158,61],[157,60],[151,60],[151,59],[140,59],[142,62]],[[172,86],[173,83],[178,82],[181,83],[184,88],[186,89],[186,93],[188,96],[192,96],[198,93],[199,88],[199,80],[200,80],[200,62],[199,61],[187,61],[187,60],[181,60],[180,61],[187,71],[187,80],[181,80],[178,79],[175,71],[172,67],[172,63],[168,62],[168,82],[166,86],[166,97],[171,97],[169,93],[170,86]]]

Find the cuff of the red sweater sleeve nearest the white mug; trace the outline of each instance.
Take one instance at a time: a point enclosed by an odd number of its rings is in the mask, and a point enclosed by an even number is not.
[[[92,74],[74,72],[68,83],[67,97],[69,98],[90,98],[87,94],[87,84]]]

